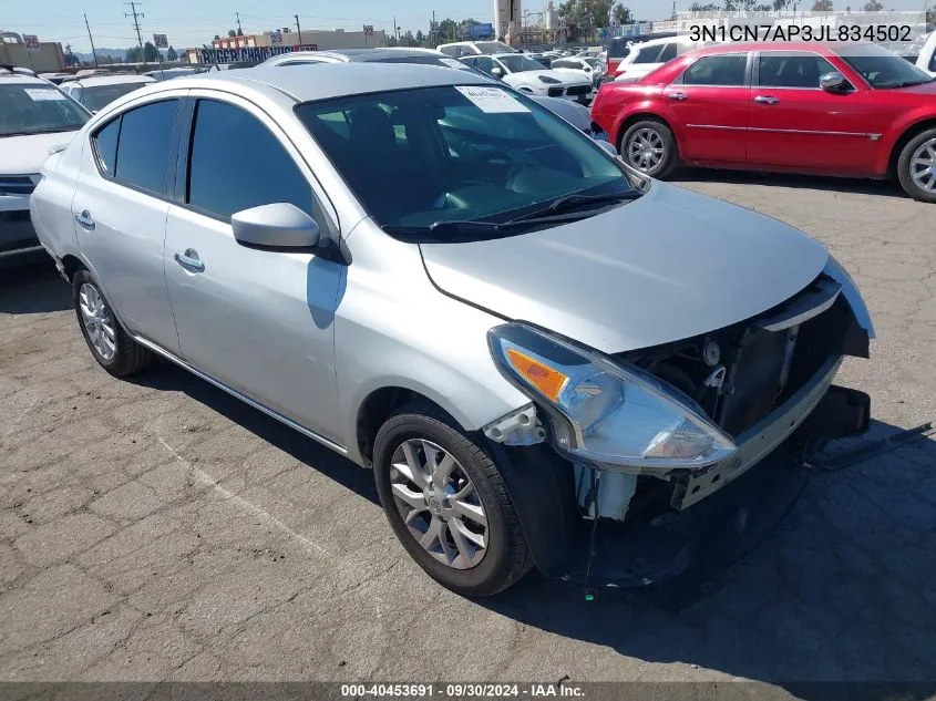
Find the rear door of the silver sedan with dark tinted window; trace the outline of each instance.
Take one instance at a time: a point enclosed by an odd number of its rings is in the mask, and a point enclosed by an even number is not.
[[[72,216],[84,257],[121,321],[178,349],[163,245],[181,95],[124,111],[91,134]]]

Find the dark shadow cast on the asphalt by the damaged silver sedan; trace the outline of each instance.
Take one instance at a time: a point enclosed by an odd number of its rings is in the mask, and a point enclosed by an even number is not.
[[[183,391],[379,503],[369,471],[168,362],[133,381]],[[898,433],[873,422],[827,455]],[[534,570],[475,604],[628,658],[767,682],[802,699],[928,699],[936,694],[934,467],[932,437],[841,468],[815,467],[778,527],[745,557],[708,571],[701,586],[692,577],[683,589],[678,580],[600,589],[587,601],[579,585]]]

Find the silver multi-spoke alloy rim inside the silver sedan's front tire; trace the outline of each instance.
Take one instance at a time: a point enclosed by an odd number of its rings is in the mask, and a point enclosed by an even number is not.
[[[393,453],[390,488],[397,509],[422,548],[454,569],[470,569],[487,551],[487,516],[457,460],[430,441],[404,441]]]

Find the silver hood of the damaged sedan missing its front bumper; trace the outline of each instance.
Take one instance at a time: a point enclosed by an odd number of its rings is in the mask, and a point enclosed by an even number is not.
[[[754,317],[806,287],[829,259],[781,221],[664,183],[573,224],[420,248],[442,291],[606,353]]]

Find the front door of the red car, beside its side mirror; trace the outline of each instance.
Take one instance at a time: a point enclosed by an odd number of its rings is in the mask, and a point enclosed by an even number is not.
[[[819,79],[840,69],[817,53],[754,56],[748,163],[836,175],[868,175],[868,100],[863,85],[827,92]]]

